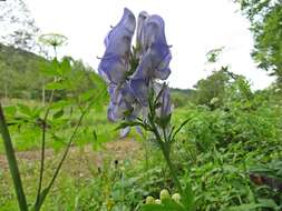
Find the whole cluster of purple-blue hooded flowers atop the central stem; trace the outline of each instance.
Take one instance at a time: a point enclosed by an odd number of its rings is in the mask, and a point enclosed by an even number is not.
[[[132,47],[136,28],[136,46]],[[158,115],[169,115],[168,87],[157,83],[171,74],[172,54],[165,38],[164,20],[143,11],[136,27],[133,12],[125,8],[121,20],[111,28],[104,43],[106,51],[98,71],[108,83],[108,119],[134,120],[148,107],[152,91],[159,96]]]

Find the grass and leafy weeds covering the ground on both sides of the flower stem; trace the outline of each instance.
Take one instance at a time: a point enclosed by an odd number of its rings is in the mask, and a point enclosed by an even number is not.
[[[68,112],[66,110],[64,117],[68,117]],[[76,121],[78,115],[74,113],[71,121]],[[231,207],[236,210],[240,204],[242,208],[257,207],[263,200],[264,210],[280,209],[282,194],[250,179],[250,168],[257,164],[268,167],[272,161],[279,163],[282,158],[279,117],[280,108],[264,105],[251,111],[237,105],[228,111],[196,105],[175,109],[174,123],[191,119],[177,137],[172,158],[182,182],[188,181],[193,187],[196,211],[225,211]],[[66,139],[72,130],[71,124],[57,123],[55,128],[59,130],[56,135]],[[93,137],[94,128],[97,140]],[[116,124],[106,119],[106,107],[98,111],[93,109],[87,114],[43,211],[133,211],[148,194],[158,198],[163,188],[175,191],[163,157],[150,137],[146,142],[139,141],[139,135],[133,130],[127,140],[118,140],[115,128]],[[35,131],[28,124],[20,132],[18,128],[10,129],[31,203],[39,172],[40,139],[37,135],[40,137],[40,129]],[[49,129],[49,134],[51,132]],[[61,155],[64,139],[61,142],[51,135],[47,139],[45,182]],[[0,180],[4,181],[0,183],[0,211],[17,210],[3,153],[0,153]],[[266,203],[274,205],[268,207]]]

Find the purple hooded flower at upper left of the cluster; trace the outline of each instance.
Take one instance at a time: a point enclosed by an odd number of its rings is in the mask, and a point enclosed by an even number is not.
[[[104,40],[106,52],[101,58],[98,71],[108,83],[118,84],[125,80],[135,28],[135,17],[130,10],[125,8],[121,20]]]

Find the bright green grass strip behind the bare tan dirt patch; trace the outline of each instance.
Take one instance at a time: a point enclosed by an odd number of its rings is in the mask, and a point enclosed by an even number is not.
[[[25,104],[29,108],[40,108],[40,103],[37,101],[25,101],[12,99],[7,101],[6,107]],[[70,112],[68,109],[65,110],[64,115],[61,117],[61,121],[57,121],[57,125],[54,125],[55,129],[47,129],[47,148],[51,148],[55,150],[61,149],[67,142],[68,138],[74,131],[74,125],[77,123],[79,119],[79,112],[71,113],[71,121],[68,121],[70,118]],[[17,111],[16,117],[22,114]],[[50,114],[51,118],[52,114]],[[8,123],[9,120],[12,121],[14,117],[7,118]],[[69,119],[68,119],[69,118]],[[64,121],[65,120],[65,121]],[[115,131],[117,124],[110,123],[107,120],[107,107],[100,108],[98,111],[91,109],[90,112],[86,115],[82,121],[82,125],[80,127],[79,133],[75,140],[76,145],[84,145],[88,143],[93,143],[94,148],[99,148],[103,142],[107,142],[110,140],[115,140],[118,138],[118,131]],[[58,130],[59,128],[59,130]],[[41,128],[35,121],[31,123],[25,123],[23,125],[10,125],[9,127],[13,147],[16,151],[27,151],[27,150],[38,150],[41,144]],[[95,140],[94,131],[97,135],[97,140]],[[0,138],[0,143],[1,143]],[[3,153],[3,145],[0,144],[0,153]]]

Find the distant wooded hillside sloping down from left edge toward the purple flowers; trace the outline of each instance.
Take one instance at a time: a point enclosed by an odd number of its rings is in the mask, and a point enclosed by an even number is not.
[[[74,83],[78,83],[74,88],[77,89],[77,92],[94,89],[95,83],[101,80],[82,61],[72,59],[70,61],[72,71],[68,77],[74,77]],[[51,66],[50,61],[38,54],[0,43],[0,99],[23,98],[39,100],[48,96],[50,91],[45,90],[45,84],[48,81],[52,81],[54,77],[42,74],[41,69],[47,70]],[[70,92],[58,90],[55,93],[55,99],[65,98]]]

